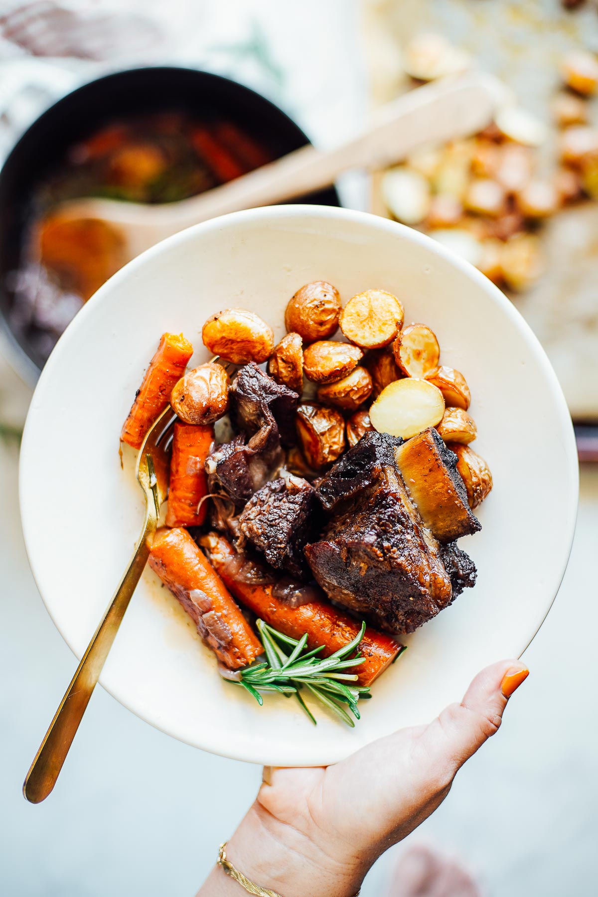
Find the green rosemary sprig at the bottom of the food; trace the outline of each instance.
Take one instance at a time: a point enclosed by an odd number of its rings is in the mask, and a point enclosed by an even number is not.
[[[294,695],[299,701],[301,710],[304,710],[316,725],[316,718],[300,693],[305,687],[313,697],[348,726],[355,726],[342,704],[347,704],[353,716],[359,719],[357,702],[360,698],[371,697],[367,686],[354,684],[358,675],[347,672],[352,666],[362,664],[365,659],[360,654],[354,658],[349,656],[358,648],[366,631],[366,624],[362,624],[359,634],[349,644],[328,658],[317,657],[324,648],[323,645],[307,650],[307,635],[298,641],[283,635],[263,620],[258,620],[256,625],[264,645],[266,659],[262,663],[241,670],[238,684],[253,695],[258,704],[264,703],[260,692],[281,692],[287,697]]]

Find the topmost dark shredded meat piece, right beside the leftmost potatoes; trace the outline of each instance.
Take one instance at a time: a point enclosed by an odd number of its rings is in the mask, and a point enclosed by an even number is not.
[[[265,374],[252,361],[238,370],[230,387],[230,416],[240,430],[255,433],[274,420],[282,445],[296,443],[299,394]]]

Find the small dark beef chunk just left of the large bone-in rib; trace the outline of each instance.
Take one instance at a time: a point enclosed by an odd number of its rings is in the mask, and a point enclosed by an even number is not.
[[[272,480],[247,501],[239,517],[244,536],[277,570],[305,578],[303,549],[316,536],[319,523],[316,492],[307,480],[286,475]]]

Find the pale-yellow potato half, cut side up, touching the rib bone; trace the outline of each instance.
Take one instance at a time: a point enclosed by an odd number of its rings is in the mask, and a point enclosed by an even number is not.
[[[445,400],[429,380],[405,378],[383,389],[369,409],[369,419],[379,433],[403,440],[435,427],[445,413]]]

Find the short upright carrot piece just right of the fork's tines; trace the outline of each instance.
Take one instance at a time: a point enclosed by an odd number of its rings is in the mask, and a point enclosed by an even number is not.
[[[212,426],[175,423],[170,461],[167,527],[201,527],[207,513],[205,459],[214,440]]]

